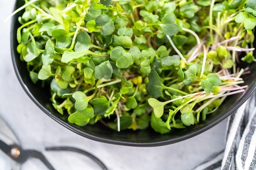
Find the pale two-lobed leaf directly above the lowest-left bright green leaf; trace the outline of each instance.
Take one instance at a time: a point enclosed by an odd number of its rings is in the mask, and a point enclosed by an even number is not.
[[[85,93],[81,91],[76,91],[72,94],[72,97],[76,100],[75,108],[76,110],[82,111],[88,107],[88,98]]]

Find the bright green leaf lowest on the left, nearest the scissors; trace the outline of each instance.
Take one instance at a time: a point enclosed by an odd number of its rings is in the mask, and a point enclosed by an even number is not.
[[[68,121],[78,126],[85,126],[93,118],[93,108],[86,108],[85,110],[77,110],[68,117]]]

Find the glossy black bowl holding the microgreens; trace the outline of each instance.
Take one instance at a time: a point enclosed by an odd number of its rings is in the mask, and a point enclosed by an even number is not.
[[[23,0],[16,0],[14,9],[18,9],[22,4],[24,4]],[[17,20],[21,14],[22,12],[17,13],[11,21],[11,55],[14,70],[20,84],[27,95],[29,95],[33,102],[43,110],[44,113],[73,132],[95,141],[124,146],[164,146],[183,141],[212,128],[220,121],[234,113],[248,99],[256,88],[256,81],[252,75],[252,73],[256,72],[256,64],[253,63],[249,65],[249,71],[251,71],[251,74],[247,74],[243,77],[245,84],[248,85],[248,88],[244,93],[227,97],[218,110],[211,115],[208,115],[207,119],[200,124],[190,126],[182,130],[175,129],[171,133],[164,135],[154,132],[150,128],[139,131],[124,130],[116,132],[106,128],[102,124],[95,124],[93,126],[86,125],[84,127],[76,126],[75,124],[68,123],[67,116],[63,117],[54,109],[52,103],[49,101],[49,98],[51,97],[49,88],[42,89],[40,85],[34,84],[27,72],[26,63],[20,61],[20,55],[16,51],[18,46],[16,33],[20,26]]]

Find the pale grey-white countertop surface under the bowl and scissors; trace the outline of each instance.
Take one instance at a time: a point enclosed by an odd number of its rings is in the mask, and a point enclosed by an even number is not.
[[[18,82],[11,62],[10,20],[14,0],[0,1],[0,115],[15,131],[23,148],[42,151],[56,170],[92,169],[89,159],[70,152],[47,152],[46,146],[67,145],[86,150],[109,170],[191,170],[225,148],[225,121],[185,141],[160,147],[139,148],[105,144],[81,137],[48,117],[27,96]],[[9,170],[8,157],[0,151],[0,170]],[[25,170],[43,170],[36,159]]]

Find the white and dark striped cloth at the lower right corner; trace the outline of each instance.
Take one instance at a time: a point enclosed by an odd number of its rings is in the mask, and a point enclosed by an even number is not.
[[[256,170],[256,93],[227,120],[226,146],[193,170]]]

